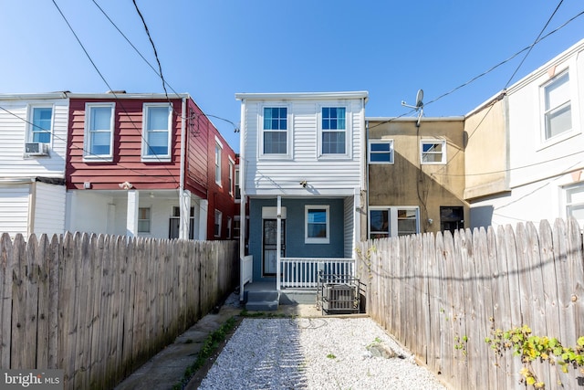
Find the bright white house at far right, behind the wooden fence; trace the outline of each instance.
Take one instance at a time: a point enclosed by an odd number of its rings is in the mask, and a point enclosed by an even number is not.
[[[472,204],[473,227],[567,216],[584,227],[584,40],[507,88],[503,102],[507,192]]]

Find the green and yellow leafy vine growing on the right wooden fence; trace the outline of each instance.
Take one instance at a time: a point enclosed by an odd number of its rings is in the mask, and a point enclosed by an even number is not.
[[[584,336],[579,337],[576,346],[566,347],[556,338],[532,335],[527,325],[508,331],[492,330],[491,333],[493,337],[485,338],[485,343],[490,344],[491,349],[499,356],[507,350],[512,350],[514,356],[519,356],[523,364],[520,374],[527,385],[537,389],[546,387],[531,370],[531,362],[536,360],[556,364],[563,373],[568,373],[570,367],[580,367],[580,372],[584,374],[584,369],[581,368],[584,366]]]

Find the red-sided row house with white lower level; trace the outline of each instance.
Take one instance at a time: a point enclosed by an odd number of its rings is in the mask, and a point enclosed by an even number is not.
[[[234,237],[235,152],[188,94],[68,96],[67,230]]]

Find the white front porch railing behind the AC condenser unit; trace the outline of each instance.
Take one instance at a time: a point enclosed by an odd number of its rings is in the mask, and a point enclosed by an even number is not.
[[[355,276],[354,258],[280,258],[280,276],[276,289],[307,289],[318,287],[318,271],[324,274]]]

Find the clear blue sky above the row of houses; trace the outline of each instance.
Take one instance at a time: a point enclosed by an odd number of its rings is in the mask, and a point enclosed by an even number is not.
[[[0,93],[163,92],[162,80],[116,29],[158,68],[131,0],[54,2],[102,76],[53,1],[5,0]],[[136,3],[169,92],[188,92],[204,112],[235,123],[236,92],[368,90],[366,115],[387,117],[409,114],[401,101],[414,104],[422,89],[424,116],[464,115],[509,80],[512,84],[584,38],[584,16],[578,16],[584,2],[564,0],[543,35],[578,17],[534,46],[527,58],[526,50],[454,90],[530,46],[560,0]],[[233,126],[211,119],[238,152]]]

